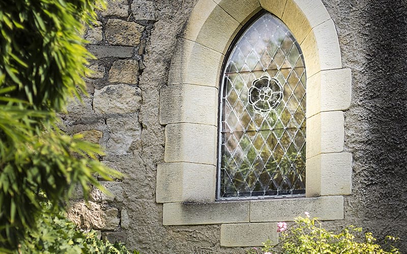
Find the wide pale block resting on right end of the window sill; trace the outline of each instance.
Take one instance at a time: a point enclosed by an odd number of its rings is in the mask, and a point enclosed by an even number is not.
[[[352,194],[352,154],[323,153],[307,159],[307,197]]]

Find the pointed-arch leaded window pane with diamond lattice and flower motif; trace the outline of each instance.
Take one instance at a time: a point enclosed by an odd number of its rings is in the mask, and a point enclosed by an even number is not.
[[[270,13],[243,32],[221,84],[218,199],[305,193],[305,65]]]

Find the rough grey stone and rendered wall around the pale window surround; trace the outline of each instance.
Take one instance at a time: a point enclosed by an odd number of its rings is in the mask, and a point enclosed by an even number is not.
[[[310,0],[311,1],[311,0]],[[244,253],[221,248],[220,226],[162,226],[155,203],[157,164],[163,162],[164,127],[159,94],[167,84],[177,35],[196,0],[116,0],[87,33],[96,73],[86,79],[90,98],[63,115],[68,133],[106,147],[101,160],[126,174],[103,182],[90,205],[80,196],[70,217],[142,253]],[[345,219],[378,238],[398,235],[407,251],[407,2],[323,0],[338,32],[343,68],[352,70],[352,106],[345,112],[345,149],[353,154],[353,195]],[[193,105],[191,105],[193,106]],[[197,148],[199,149],[199,148]]]

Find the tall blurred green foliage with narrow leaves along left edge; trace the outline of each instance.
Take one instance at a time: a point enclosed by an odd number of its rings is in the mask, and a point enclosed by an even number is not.
[[[96,160],[97,145],[56,125],[55,112],[84,92],[91,55],[81,31],[95,8],[94,0],[0,0],[0,251],[35,230],[41,201],[63,209],[74,184],[86,197],[89,183],[101,188],[95,174],[120,176]]]

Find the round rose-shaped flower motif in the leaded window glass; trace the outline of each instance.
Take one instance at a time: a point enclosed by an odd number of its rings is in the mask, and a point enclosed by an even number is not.
[[[283,89],[276,78],[264,76],[255,79],[249,89],[249,103],[260,112],[275,109],[282,97]]]

